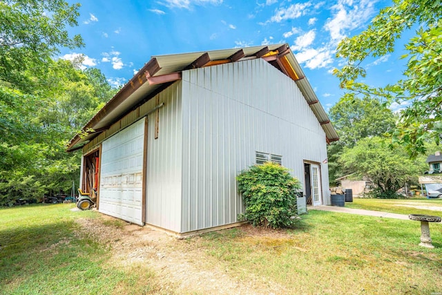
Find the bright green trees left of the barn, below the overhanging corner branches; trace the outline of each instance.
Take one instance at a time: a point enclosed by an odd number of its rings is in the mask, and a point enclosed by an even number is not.
[[[66,143],[115,93],[99,70],[48,66],[51,87],[28,94],[0,84],[0,205],[69,192],[80,154],[66,153]]]

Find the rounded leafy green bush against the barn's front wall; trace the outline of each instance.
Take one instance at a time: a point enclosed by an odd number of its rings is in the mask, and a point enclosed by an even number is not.
[[[238,189],[246,206],[241,216],[253,226],[291,227],[296,223],[296,190],[300,182],[289,170],[267,162],[242,171],[237,177]]]

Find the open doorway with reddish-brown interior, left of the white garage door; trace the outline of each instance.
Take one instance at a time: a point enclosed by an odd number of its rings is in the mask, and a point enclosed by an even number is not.
[[[87,193],[95,204],[98,204],[99,164],[99,149],[84,156],[81,191]]]

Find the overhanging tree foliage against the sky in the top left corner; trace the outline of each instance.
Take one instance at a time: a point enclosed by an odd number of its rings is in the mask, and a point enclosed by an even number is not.
[[[69,37],[66,30],[77,26],[79,6],[64,0],[0,1],[0,82],[28,92],[44,82],[60,47],[83,46],[79,35]]]

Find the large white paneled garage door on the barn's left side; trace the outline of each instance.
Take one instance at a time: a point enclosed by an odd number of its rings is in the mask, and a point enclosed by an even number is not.
[[[144,119],[102,145],[99,211],[142,224]]]

